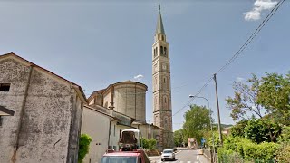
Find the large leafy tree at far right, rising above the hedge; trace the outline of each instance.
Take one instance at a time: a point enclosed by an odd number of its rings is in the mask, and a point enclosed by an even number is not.
[[[258,79],[253,74],[247,83],[234,82],[235,96],[226,99],[227,107],[232,110],[233,120],[256,118],[263,120],[263,126],[260,127],[266,127],[267,135],[272,142],[275,142],[283,129],[282,124],[289,123],[289,77],[289,74],[283,77],[276,73],[266,73],[266,77]],[[251,116],[248,116],[248,113]],[[256,134],[255,129],[250,130],[254,131],[251,133],[252,136]]]

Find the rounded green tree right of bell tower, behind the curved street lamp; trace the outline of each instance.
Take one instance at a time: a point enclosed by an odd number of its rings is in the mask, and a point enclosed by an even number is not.
[[[183,133],[185,138],[195,138],[200,142],[203,132],[210,129],[210,113],[205,106],[191,105],[190,110],[184,114]]]

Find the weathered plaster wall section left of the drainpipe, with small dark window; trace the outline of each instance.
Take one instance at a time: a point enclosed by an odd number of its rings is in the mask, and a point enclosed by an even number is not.
[[[0,127],[0,159],[10,162],[13,156],[19,112],[24,98],[29,68],[12,59],[0,60],[0,83],[11,83],[10,91],[0,91],[0,105],[14,110],[14,116],[3,117]]]

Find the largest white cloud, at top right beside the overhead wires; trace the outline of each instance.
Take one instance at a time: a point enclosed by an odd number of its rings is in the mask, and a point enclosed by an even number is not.
[[[276,1],[272,0],[256,0],[254,8],[245,14],[246,21],[256,21],[261,18],[261,13],[264,10],[271,10],[277,4]]]

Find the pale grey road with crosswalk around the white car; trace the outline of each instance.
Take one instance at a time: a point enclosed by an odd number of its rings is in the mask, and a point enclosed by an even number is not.
[[[198,155],[198,150],[193,149],[178,149],[174,161],[163,161],[163,163],[209,163],[202,155]],[[150,157],[150,160],[160,163],[161,157]]]

